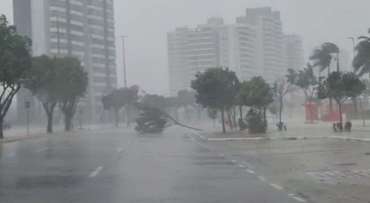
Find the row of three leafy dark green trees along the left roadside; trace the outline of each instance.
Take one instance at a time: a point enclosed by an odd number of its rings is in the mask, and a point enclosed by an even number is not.
[[[32,41],[17,33],[4,15],[0,16],[0,139],[2,124],[18,90],[28,88],[40,101],[47,116],[47,133],[52,132],[53,112],[58,105],[65,117],[65,130],[87,88],[87,74],[77,58],[32,57]]]

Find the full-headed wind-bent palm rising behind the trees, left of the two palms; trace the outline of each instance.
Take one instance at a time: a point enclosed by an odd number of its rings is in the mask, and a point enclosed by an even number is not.
[[[333,56],[336,54],[337,57],[337,66],[336,69],[339,71],[339,48],[331,43],[326,42],[321,45],[320,48],[317,48],[313,51],[313,54],[310,56],[310,60],[313,60],[313,67],[320,67],[320,72],[323,72],[325,69],[328,69],[328,76],[330,75],[330,64],[332,62]],[[333,101],[332,98],[329,98],[329,111],[333,113]]]

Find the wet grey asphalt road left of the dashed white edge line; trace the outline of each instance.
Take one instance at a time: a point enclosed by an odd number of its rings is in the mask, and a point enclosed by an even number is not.
[[[296,203],[211,148],[172,129],[123,129],[0,144],[0,203]]]

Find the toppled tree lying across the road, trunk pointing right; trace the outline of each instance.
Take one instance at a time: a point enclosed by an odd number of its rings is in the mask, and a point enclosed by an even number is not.
[[[135,127],[135,130],[139,133],[160,133],[163,132],[165,128],[173,125],[201,131],[198,128],[193,128],[179,123],[175,118],[168,115],[162,109],[150,107],[145,104],[138,104],[136,108],[139,110],[139,117],[136,119],[137,126]]]

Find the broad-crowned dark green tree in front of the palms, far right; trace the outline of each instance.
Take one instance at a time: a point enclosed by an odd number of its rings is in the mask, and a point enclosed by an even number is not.
[[[354,73],[333,72],[320,82],[318,97],[332,97],[339,108],[340,123],[343,126],[342,104],[350,97],[357,97],[366,89],[366,85]]]

